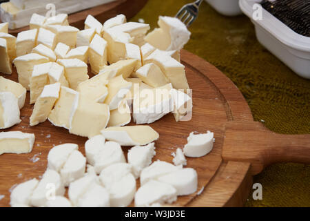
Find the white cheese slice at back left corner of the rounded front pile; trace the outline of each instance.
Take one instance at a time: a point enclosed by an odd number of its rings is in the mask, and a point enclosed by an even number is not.
[[[77,144],[61,144],[54,146],[50,152],[48,152],[48,169],[60,172],[71,153],[78,149],[79,146]]]

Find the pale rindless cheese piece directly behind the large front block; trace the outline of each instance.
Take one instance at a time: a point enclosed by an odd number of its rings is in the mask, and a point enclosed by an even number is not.
[[[107,97],[107,75],[99,74],[86,81],[83,81],[77,87],[77,91],[82,97],[93,102],[103,103]]]

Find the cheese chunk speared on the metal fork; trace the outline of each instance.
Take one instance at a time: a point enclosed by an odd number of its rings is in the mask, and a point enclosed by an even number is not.
[[[160,16],[158,26],[161,28],[155,29],[145,37],[145,41],[158,49],[180,50],[189,41],[191,32],[177,18]]]

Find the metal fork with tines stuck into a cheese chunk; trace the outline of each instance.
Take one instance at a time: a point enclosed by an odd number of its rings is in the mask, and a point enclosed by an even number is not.
[[[194,3],[186,4],[178,11],[176,18],[180,19],[188,28],[197,19],[198,8],[202,2],[203,0],[198,0]]]

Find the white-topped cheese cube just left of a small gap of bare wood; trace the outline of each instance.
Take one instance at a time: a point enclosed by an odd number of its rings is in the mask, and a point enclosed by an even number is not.
[[[80,59],[58,59],[57,63],[65,68],[65,78],[68,80],[69,86],[73,90],[76,90],[81,82],[89,78],[87,74],[87,64]]]

